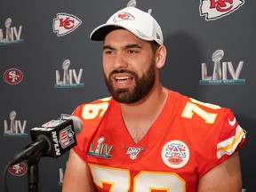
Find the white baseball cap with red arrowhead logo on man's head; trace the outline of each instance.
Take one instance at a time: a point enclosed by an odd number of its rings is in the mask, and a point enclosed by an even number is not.
[[[102,41],[115,28],[124,28],[145,41],[164,44],[163,33],[157,21],[150,13],[143,12],[136,7],[125,7],[113,14],[107,23],[92,31],[90,38],[94,41]]]

